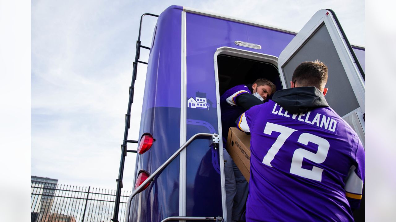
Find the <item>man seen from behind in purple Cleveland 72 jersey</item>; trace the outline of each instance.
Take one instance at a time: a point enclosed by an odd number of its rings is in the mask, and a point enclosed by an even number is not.
[[[326,82],[326,65],[303,62],[291,88],[237,119],[251,134],[247,221],[353,221],[364,148],[327,104]]]

